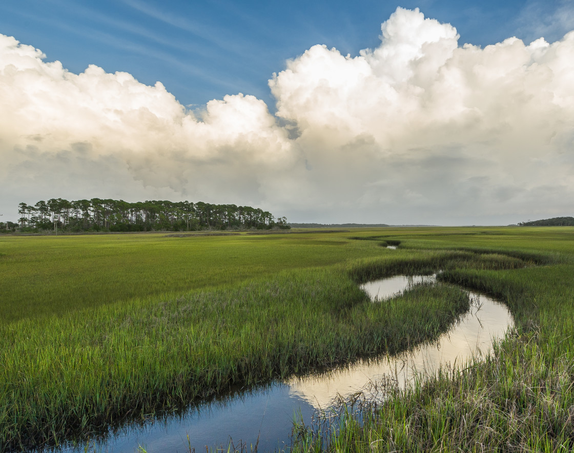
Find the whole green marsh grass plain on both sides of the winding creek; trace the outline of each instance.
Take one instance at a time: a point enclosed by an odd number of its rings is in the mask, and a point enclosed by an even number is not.
[[[526,411],[517,445],[571,442],[573,239],[574,229],[552,228],[1,237],[0,448],[85,436],[231,385],[435,338],[468,308],[456,286],[421,286],[383,307],[357,283],[437,269],[445,282],[506,300],[517,334],[490,361],[364,413],[364,426],[349,416],[330,448],[371,451],[370,439],[382,436],[380,451],[391,443],[480,451],[473,442],[489,429],[462,428],[474,402],[486,418],[472,420],[491,429],[499,429],[493,420],[510,423],[512,407]],[[550,393],[534,391],[546,378]],[[544,409],[550,394],[562,411],[554,418]],[[412,429],[400,444],[405,423]],[[505,429],[496,432],[510,439]],[[441,447],[446,433],[456,436]],[[307,437],[296,448],[322,442]]]

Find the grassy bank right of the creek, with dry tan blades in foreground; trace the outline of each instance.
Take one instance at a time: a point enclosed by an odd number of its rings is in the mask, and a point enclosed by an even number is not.
[[[506,300],[516,322],[513,335],[485,362],[445,369],[424,385],[391,392],[377,408],[367,404],[347,413],[338,433],[313,436],[313,427],[301,425],[293,451],[574,450],[574,230],[501,233],[506,241],[453,239],[459,249],[484,251],[499,243],[498,250],[534,257],[539,265],[449,269],[440,278]],[[419,235],[410,244],[435,248],[446,239]]]

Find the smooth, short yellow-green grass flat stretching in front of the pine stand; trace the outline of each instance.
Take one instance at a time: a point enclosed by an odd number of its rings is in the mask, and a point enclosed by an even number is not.
[[[165,234],[0,237],[0,320],[49,316],[133,297],[236,284],[284,269],[379,255],[325,235]]]

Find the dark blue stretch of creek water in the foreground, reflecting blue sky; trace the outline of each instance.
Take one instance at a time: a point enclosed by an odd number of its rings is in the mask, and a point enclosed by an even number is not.
[[[196,451],[205,446],[227,451],[230,440],[235,446],[246,443],[248,451],[256,443],[259,451],[273,451],[289,442],[294,411],[309,420],[315,408],[293,394],[289,385],[277,383],[228,402],[193,408],[183,416],[126,427],[105,440],[91,441],[88,451],[124,453],[142,446],[148,453],[181,453],[188,451],[188,445]],[[84,447],[56,451],[80,453]]]

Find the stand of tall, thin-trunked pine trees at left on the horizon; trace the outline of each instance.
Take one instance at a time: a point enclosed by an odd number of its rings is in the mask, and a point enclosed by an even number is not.
[[[18,204],[18,223],[0,223],[7,231],[197,231],[289,229],[285,217],[250,206],[204,202],[64,200]]]

